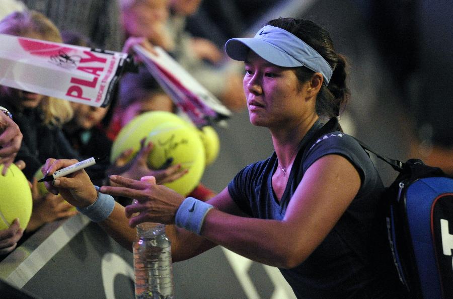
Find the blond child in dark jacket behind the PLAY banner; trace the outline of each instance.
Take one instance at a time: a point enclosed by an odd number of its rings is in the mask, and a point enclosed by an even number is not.
[[[15,12],[0,21],[0,33],[61,42],[55,25],[35,11]],[[7,108],[19,126],[23,140],[15,160],[23,160],[23,172],[32,182],[33,211],[26,233],[44,223],[75,214],[61,196],[40,194],[35,174],[48,157],[77,158],[64,137],[60,126],[72,117],[67,101],[9,88],[0,87],[0,105]]]

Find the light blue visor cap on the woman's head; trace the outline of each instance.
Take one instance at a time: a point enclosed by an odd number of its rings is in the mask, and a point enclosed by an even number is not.
[[[326,85],[332,77],[332,67],[326,59],[306,42],[278,27],[266,25],[253,38],[232,38],[225,43],[226,54],[234,60],[246,60],[249,50],[278,66],[305,66],[320,72]]]

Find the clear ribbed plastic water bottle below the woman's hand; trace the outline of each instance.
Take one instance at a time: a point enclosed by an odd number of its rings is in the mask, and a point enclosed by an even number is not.
[[[133,245],[136,299],[174,299],[171,244],[160,223],[141,223]]]

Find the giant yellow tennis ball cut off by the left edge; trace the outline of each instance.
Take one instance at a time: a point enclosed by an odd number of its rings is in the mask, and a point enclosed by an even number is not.
[[[0,172],[4,165],[0,165]],[[19,218],[25,230],[32,212],[30,185],[22,171],[12,164],[5,176],[0,174],[0,230],[8,229],[15,218]]]

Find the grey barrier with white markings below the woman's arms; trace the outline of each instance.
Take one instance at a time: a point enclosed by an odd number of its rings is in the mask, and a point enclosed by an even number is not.
[[[293,298],[269,269],[217,247],[173,264],[175,294]],[[80,214],[45,226],[0,263],[0,279],[37,298],[133,298],[133,277],[131,252]]]

